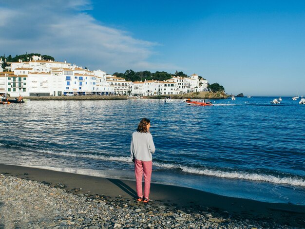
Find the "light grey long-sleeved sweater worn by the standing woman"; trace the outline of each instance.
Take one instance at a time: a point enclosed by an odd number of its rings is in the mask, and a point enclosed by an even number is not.
[[[155,147],[151,133],[133,132],[130,144],[130,157],[141,161],[151,161]]]

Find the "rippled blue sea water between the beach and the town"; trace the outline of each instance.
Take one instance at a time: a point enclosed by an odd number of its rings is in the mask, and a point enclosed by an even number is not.
[[[305,105],[283,97],[27,101],[0,106],[0,163],[134,179],[131,134],[151,119],[152,182],[305,205]]]

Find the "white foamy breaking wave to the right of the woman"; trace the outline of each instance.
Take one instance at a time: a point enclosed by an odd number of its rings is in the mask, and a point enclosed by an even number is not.
[[[191,174],[216,176],[216,177],[232,178],[232,179],[252,180],[252,181],[265,181],[265,182],[270,182],[270,183],[275,183],[275,184],[287,184],[287,185],[305,187],[305,180],[302,178],[277,177],[274,175],[237,172],[237,171],[227,172],[227,171],[221,171],[221,170],[198,169],[198,168],[193,168],[193,167],[189,167],[189,166],[165,164],[165,163],[158,163],[158,162],[154,162],[153,165],[160,167],[160,168],[180,169],[182,172],[191,173]]]

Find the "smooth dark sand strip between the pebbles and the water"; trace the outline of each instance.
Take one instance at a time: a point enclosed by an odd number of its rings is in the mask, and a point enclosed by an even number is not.
[[[107,196],[111,201],[117,201],[117,198],[119,198],[133,203],[136,195],[135,182],[128,180],[92,177],[4,164],[0,164],[0,173],[5,176],[42,182],[51,187],[62,186],[61,188],[69,193],[89,195],[90,198],[94,198],[95,195]],[[194,214],[212,214],[223,219],[242,220],[246,223],[248,222],[248,224],[262,225],[267,222],[267,224],[271,225],[276,223],[278,225],[305,228],[305,206],[265,203],[221,196],[191,188],[153,183],[150,198],[153,200],[151,205],[155,208],[184,210]]]

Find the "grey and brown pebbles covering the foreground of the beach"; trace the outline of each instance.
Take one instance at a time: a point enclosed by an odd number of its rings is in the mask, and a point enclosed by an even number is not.
[[[27,175],[27,174],[24,174]],[[130,198],[68,191],[48,184],[0,174],[0,228],[112,229],[292,229],[275,222],[234,219],[229,212],[172,203],[136,203]]]

